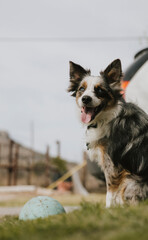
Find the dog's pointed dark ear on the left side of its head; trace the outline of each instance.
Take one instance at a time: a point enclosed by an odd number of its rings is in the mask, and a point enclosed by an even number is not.
[[[83,77],[90,74],[90,70],[85,70],[80,65],[69,62],[70,64],[70,85],[68,87],[68,92],[73,92],[72,96],[76,96],[76,91]]]

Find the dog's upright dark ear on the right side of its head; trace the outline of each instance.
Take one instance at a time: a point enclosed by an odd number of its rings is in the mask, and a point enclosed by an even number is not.
[[[100,73],[108,84],[119,84],[122,77],[122,67],[120,59],[114,60],[104,72]]]

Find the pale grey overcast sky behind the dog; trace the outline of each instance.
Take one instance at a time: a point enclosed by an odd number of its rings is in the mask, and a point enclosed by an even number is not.
[[[61,157],[81,162],[69,61],[98,75],[120,58],[124,71],[148,45],[147,9],[147,0],[0,0],[0,130],[52,155],[59,140]]]

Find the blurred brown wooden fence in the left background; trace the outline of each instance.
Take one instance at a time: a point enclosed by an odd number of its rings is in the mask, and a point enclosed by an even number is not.
[[[26,184],[30,185],[32,171],[38,162],[45,165],[45,185],[48,186],[50,184],[50,172],[57,171],[50,164],[49,147],[47,147],[45,154],[40,154],[13,140],[8,143],[0,143],[0,169],[7,170],[7,185],[17,185],[20,170],[27,172]]]

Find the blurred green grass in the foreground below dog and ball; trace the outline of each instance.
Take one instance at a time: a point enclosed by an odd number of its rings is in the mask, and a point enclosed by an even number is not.
[[[148,202],[132,207],[105,209],[97,203],[81,210],[34,221],[6,217],[0,221],[2,240],[147,240]]]

